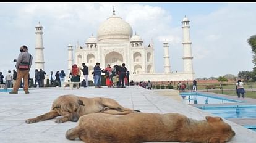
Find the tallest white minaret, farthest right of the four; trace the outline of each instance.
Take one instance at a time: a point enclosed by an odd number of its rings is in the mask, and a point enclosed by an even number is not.
[[[193,73],[193,63],[192,63],[192,50],[190,41],[190,33],[189,33],[189,19],[186,17],[182,20],[182,31],[183,31],[183,66],[184,66],[184,73]]]

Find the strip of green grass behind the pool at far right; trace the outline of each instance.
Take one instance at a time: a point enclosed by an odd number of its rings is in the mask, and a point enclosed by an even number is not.
[[[221,94],[221,90],[213,90],[213,91],[208,91],[208,92]],[[223,94],[226,94],[226,95],[229,95],[229,96],[237,96],[236,90],[224,90]],[[240,96],[242,97],[241,94],[240,94]],[[246,91],[245,97],[256,99],[256,91]]]

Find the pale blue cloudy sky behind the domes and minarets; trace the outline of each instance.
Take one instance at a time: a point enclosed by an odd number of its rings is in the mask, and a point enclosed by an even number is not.
[[[190,20],[195,78],[252,71],[247,39],[256,34],[254,2],[0,2],[0,71],[14,69],[20,46],[35,62],[35,27],[43,25],[46,75],[67,72],[67,46],[83,46],[108,17],[128,22],[147,46],[153,39],[155,71],[164,72],[163,41],[169,42],[171,71],[183,71],[182,19]],[[35,63],[30,75],[33,77]]]

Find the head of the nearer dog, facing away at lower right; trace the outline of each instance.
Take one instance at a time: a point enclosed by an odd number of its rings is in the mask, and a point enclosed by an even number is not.
[[[210,137],[208,142],[224,143],[228,142],[235,136],[236,133],[232,130],[231,126],[228,125],[228,123],[225,123],[222,118],[206,116],[205,119],[213,129],[213,136]]]

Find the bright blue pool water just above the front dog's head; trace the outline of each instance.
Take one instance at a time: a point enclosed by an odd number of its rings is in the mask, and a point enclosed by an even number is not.
[[[222,118],[256,118],[256,105],[197,107]]]

